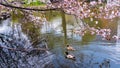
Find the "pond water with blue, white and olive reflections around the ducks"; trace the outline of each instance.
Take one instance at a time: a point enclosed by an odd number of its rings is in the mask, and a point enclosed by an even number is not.
[[[112,35],[120,36],[120,20],[91,18],[76,19],[72,15],[61,12],[45,12],[48,22],[35,27],[33,23],[23,22],[23,16],[16,18],[12,15],[12,23],[20,23],[22,31],[31,42],[46,38],[50,51],[56,55],[53,64],[56,68],[119,68],[120,67],[120,40],[103,40],[100,36],[86,33],[84,36],[75,34],[74,29],[85,28],[84,23],[91,27],[110,28]],[[39,16],[39,15],[38,15]],[[95,22],[98,21],[97,24]],[[81,27],[80,27],[81,26]],[[2,30],[2,29],[0,29]],[[66,45],[70,44],[75,51],[69,53],[75,55],[76,60],[65,58]]]

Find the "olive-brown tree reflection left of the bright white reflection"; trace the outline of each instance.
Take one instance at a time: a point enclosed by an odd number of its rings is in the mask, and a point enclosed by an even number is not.
[[[25,34],[27,34],[32,44],[33,45],[39,44],[40,39],[41,39],[40,38],[40,28],[41,28],[40,23],[42,21],[39,21],[39,23],[36,22],[37,20],[32,21],[32,17],[30,17],[32,15],[30,13],[26,12],[25,14],[22,14],[21,12],[24,13],[24,11],[17,10],[16,14],[15,13],[12,14],[13,23],[19,22],[22,26],[22,31]],[[18,17],[16,17],[16,15]]]

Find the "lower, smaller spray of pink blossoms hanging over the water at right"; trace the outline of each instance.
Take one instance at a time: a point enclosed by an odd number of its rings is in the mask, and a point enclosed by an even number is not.
[[[80,36],[84,36],[87,32],[90,32],[91,35],[101,36],[103,40],[110,41],[111,39],[120,39],[117,35],[111,36],[111,29],[96,29],[94,27],[88,27],[87,29],[74,30],[74,33],[79,34]]]

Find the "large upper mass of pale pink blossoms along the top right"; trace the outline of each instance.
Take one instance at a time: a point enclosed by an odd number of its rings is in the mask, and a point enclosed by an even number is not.
[[[62,8],[65,13],[73,14],[81,19],[87,17],[112,19],[120,16],[119,3],[105,4],[102,3],[101,0],[98,2],[91,1],[90,3],[76,0],[64,0],[57,4],[51,3],[48,7]]]

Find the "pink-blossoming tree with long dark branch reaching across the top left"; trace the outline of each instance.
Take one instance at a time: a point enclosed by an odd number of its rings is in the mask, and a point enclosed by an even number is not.
[[[51,3],[47,3],[46,7],[41,9],[31,8],[30,6],[25,7],[24,4],[20,4],[20,6],[18,6],[18,4],[13,5],[12,3],[5,4],[3,2],[1,2],[0,4],[9,8],[16,8],[21,10],[33,10],[33,11],[57,10],[57,11],[62,11],[66,14],[74,15],[76,18],[79,19],[85,19],[85,18],[113,19],[116,17],[120,17],[120,11],[119,11],[120,0],[113,0],[109,3],[108,2],[105,3],[104,2],[105,0],[97,0],[97,1],[96,0],[94,1],[93,0],[92,1],[91,0],[50,0],[50,1]],[[91,28],[88,25],[86,26],[87,27],[83,30],[86,29],[91,30]],[[95,32],[95,30],[99,30],[99,29],[97,28],[91,31]],[[103,32],[106,33],[106,31]],[[105,35],[105,37],[107,36],[108,34]]]

